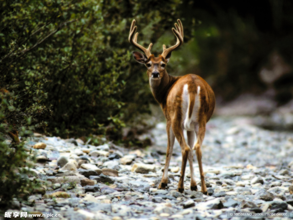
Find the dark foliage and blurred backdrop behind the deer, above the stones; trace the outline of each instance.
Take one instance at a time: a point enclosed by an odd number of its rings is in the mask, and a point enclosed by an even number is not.
[[[203,77],[217,97],[214,116],[293,129],[290,0],[1,0],[0,133],[149,145],[138,137],[163,116],[132,58],[130,24],[157,56],[176,42],[178,18],[184,43],[169,74]]]

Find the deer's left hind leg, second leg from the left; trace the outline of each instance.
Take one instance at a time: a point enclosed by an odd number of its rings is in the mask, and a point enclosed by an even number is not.
[[[172,129],[177,141],[180,144],[181,153],[182,153],[182,165],[181,165],[180,179],[179,179],[178,188],[177,188],[177,191],[182,193],[184,191],[185,167],[186,167],[188,155],[189,155],[189,152],[191,151],[191,148],[188,146],[188,144],[186,143],[184,139],[183,127],[178,120],[172,121]]]

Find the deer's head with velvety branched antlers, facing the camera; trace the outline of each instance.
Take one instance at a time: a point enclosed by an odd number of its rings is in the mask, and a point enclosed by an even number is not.
[[[166,74],[165,68],[167,62],[170,60],[172,51],[180,47],[180,45],[183,43],[183,26],[179,19],[177,21],[178,24],[175,23],[176,29],[172,28],[172,31],[177,38],[177,42],[170,48],[166,48],[166,46],[163,45],[163,53],[160,54],[159,57],[155,57],[153,54],[151,54],[151,46],[153,45],[152,43],[149,44],[148,48],[144,48],[142,45],[137,43],[138,33],[136,33],[137,26],[134,26],[135,20],[133,19],[131,23],[128,40],[134,47],[144,52],[143,54],[134,51],[132,54],[137,62],[143,63],[147,67],[147,74],[150,79],[160,80],[164,74]]]

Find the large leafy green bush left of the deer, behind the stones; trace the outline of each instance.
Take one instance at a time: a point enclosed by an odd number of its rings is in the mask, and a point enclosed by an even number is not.
[[[62,137],[117,138],[125,120],[149,111],[146,74],[130,66],[130,23],[137,20],[141,43],[154,43],[176,20],[179,0],[0,4],[0,83],[15,96],[10,115],[30,115]]]

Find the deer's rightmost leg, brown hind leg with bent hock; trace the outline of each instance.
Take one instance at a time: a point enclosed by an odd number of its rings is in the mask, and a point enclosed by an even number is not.
[[[201,192],[207,195],[207,187],[205,185],[205,175],[202,169],[202,161],[201,161],[202,159],[201,146],[202,146],[202,141],[204,137],[205,137],[205,122],[202,121],[201,123],[199,123],[199,128],[197,131],[197,140],[195,142],[195,145],[193,146],[193,150],[195,150],[198,167],[200,170]]]

